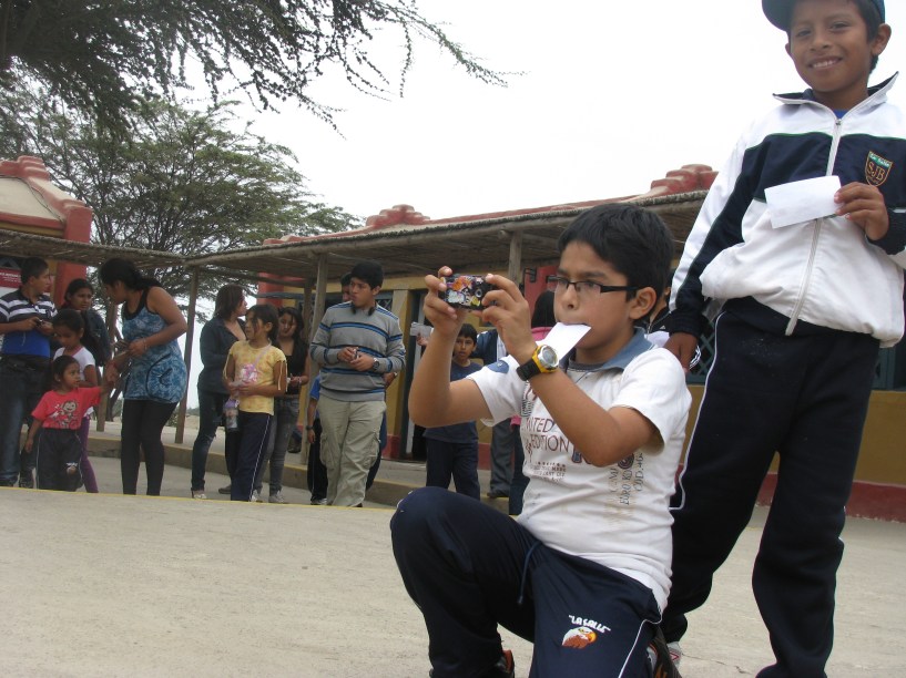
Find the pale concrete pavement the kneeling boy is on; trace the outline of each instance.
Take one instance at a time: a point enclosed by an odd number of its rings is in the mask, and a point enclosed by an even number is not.
[[[164,493],[186,499],[122,496],[119,460],[93,461],[111,494],[0,489],[1,675],[427,675],[390,508],[309,506],[288,489],[287,506],[193,501],[189,470],[175,466]],[[210,490],[222,483],[208,475]],[[686,678],[755,675],[770,661],[750,588],[764,515],[691,617]],[[906,525],[851,520],[844,541],[828,675],[900,675]],[[530,644],[501,635],[527,676]]]

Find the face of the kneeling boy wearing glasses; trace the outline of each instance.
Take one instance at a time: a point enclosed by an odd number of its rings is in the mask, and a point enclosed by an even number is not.
[[[609,286],[628,284],[623,274],[599,257],[590,245],[578,240],[563,249],[557,275],[570,280],[590,280]],[[628,299],[628,296],[632,298]],[[613,358],[632,338],[633,323],[648,315],[655,296],[650,287],[628,295],[625,291],[600,292],[593,288],[579,292],[576,286],[570,285],[566,289],[557,289],[553,308],[559,322],[591,327],[576,346],[576,360],[584,364],[597,364]]]

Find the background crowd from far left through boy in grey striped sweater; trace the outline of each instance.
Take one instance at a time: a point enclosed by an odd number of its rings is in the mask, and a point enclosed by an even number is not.
[[[88,454],[91,417],[101,397],[116,388],[122,397],[123,493],[136,493],[142,461],[147,494],[161,493],[162,432],[187,387],[177,342],[187,329],[186,318],[161,284],[131,261],[111,258],[98,274],[106,298],[119,306],[122,330],[115,342],[111,340],[114,323],[109,328],[94,310],[94,289],[88,280],[72,280],[57,309],[50,297],[50,267],[43,259],[24,259],[19,289],[0,299],[0,373],[7,382],[0,391],[4,417],[0,485],[18,482],[21,487],[84,487],[96,493]],[[383,268],[375,261],[363,261],[346,274],[340,281],[343,300],[328,309],[313,347],[305,339],[297,308],[269,304],[248,308],[241,286],[220,288],[213,317],[200,338],[203,367],[196,384],[193,499],[207,499],[208,452],[217,430],[224,428],[231,482],[220,493],[237,501],[264,501],[267,472],[267,501],[287,503],[283,496],[286,455],[294,436],[304,432],[309,443],[312,504],[362,505],[387,442],[385,392],[405,367],[399,320],[376,302],[383,279]],[[366,329],[354,336],[332,336],[330,319],[337,314],[366,318],[362,323]],[[336,358],[339,353],[342,358]],[[325,355],[330,356],[328,364],[302,403],[312,372],[309,359]],[[323,391],[322,383],[326,383]],[[231,403],[236,412],[232,428],[225,418]],[[326,410],[323,418],[320,410]],[[325,422],[329,428],[322,439]],[[22,424],[30,424],[24,443]],[[44,463],[35,469],[39,458]]]

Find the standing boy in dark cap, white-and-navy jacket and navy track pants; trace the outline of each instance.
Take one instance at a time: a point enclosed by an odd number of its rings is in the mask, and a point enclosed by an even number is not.
[[[883,0],[762,6],[808,89],[777,96],[743,134],[673,279],[666,348],[686,367],[716,317],[716,351],[673,497],[662,628],[669,641],[684,634],[778,452],[752,577],[776,664],[759,676],[807,678],[825,675],[833,646],[839,534],[878,347],[903,333],[906,117],[886,101],[894,78],[868,88],[890,37]],[[811,188],[788,186],[802,179]],[[783,185],[792,199],[771,191]],[[784,207],[800,216],[782,218]]]

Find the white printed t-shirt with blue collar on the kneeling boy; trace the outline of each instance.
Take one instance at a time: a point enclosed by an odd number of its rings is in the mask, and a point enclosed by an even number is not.
[[[603,409],[640,412],[661,440],[610,466],[593,466],[507,362],[469,376],[495,422],[522,415],[522,472],[529,485],[519,522],[548,546],[648,586],[663,609],[673,551],[669,505],[692,400],[683,370],[673,355],[637,332],[603,366],[569,368],[567,374]]]

